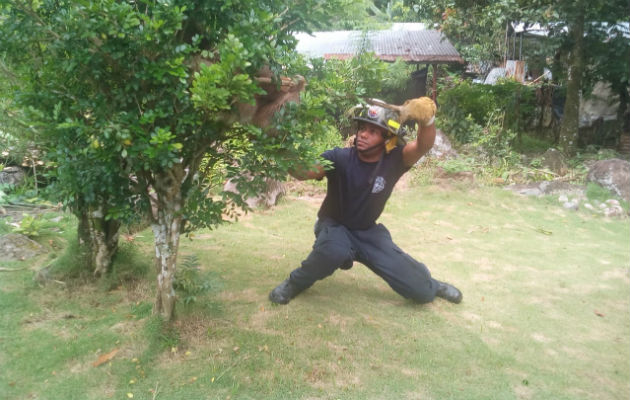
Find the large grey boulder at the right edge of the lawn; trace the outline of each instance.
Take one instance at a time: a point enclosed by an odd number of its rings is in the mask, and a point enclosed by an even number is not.
[[[587,182],[595,182],[616,196],[630,202],[630,162],[612,158],[595,162],[586,175]]]

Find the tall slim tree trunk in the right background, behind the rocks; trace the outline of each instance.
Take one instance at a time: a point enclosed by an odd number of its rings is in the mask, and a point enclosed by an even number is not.
[[[564,115],[560,126],[559,144],[567,155],[575,154],[577,150],[578,130],[580,127],[580,89],[582,87],[582,73],[584,71],[584,10],[569,26],[573,47],[569,57],[569,74],[567,82],[567,96],[564,103]]]

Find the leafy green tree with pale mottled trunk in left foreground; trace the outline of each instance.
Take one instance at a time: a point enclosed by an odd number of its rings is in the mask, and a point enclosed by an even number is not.
[[[296,58],[292,32],[310,31],[337,6],[44,0],[0,8],[3,56],[20,80],[15,99],[57,165],[57,193],[84,233],[101,235],[90,241],[97,246],[117,242],[121,221],[148,216],[155,311],[166,319],[181,233],[244,205],[234,193],[209,196],[216,179],[200,165],[237,178],[249,172],[255,179],[238,179],[247,196],[262,171],[280,176],[309,149],[307,132],[271,116],[312,117],[303,107],[277,112],[290,97],[282,87],[303,85],[280,75]]]

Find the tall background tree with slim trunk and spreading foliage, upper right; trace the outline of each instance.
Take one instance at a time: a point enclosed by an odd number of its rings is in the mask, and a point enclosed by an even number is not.
[[[595,80],[606,80],[628,107],[630,41],[627,0],[414,0],[417,18],[442,29],[469,62],[503,61],[506,26],[540,24],[549,32],[548,59],[562,60],[554,80],[566,86],[559,144],[568,154],[577,148],[580,98]],[[625,35],[625,36],[624,36]],[[524,55],[527,59],[527,54]],[[547,65],[552,67],[551,65]]]

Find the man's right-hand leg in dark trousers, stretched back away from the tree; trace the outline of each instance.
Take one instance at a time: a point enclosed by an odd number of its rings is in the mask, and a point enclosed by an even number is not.
[[[352,233],[361,243],[357,260],[383,278],[396,293],[418,303],[429,303],[436,295],[454,303],[461,301],[459,290],[433,279],[426,265],[396,246],[385,226],[378,224]]]

